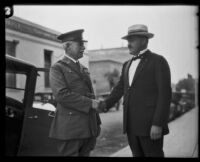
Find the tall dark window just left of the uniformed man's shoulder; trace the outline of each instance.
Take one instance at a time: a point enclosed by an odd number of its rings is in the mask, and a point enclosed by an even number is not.
[[[51,56],[52,56],[52,51],[44,50],[44,68],[49,69],[51,67]],[[45,86],[45,88],[49,88],[50,87],[49,72],[45,72],[45,75],[44,75],[44,86]]]

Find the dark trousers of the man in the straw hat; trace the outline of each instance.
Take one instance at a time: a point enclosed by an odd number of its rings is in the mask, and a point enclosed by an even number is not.
[[[133,157],[164,157],[163,136],[152,140],[150,136],[127,134]]]

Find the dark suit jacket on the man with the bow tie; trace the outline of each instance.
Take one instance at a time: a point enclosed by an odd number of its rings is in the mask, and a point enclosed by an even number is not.
[[[120,80],[106,100],[107,109],[124,96],[124,133],[149,136],[151,126],[157,125],[163,128],[163,135],[168,134],[171,76],[166,59],[147,50],[131,86],[128,83],[130,65],[131,60],[124,63]]]

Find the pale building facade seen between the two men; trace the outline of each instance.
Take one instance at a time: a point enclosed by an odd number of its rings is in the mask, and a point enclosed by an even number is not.
[[[117,71],[120,76],[123,63],[131,58],[127,47],[88,50],[87,55],[97,96],[110,92],[111,87],[106,74]]]

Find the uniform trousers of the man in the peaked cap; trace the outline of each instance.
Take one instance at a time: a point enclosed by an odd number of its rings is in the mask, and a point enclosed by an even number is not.
[[[96,137],[73,140],[58,140],[60,156],[89,156],[96,145]]]

